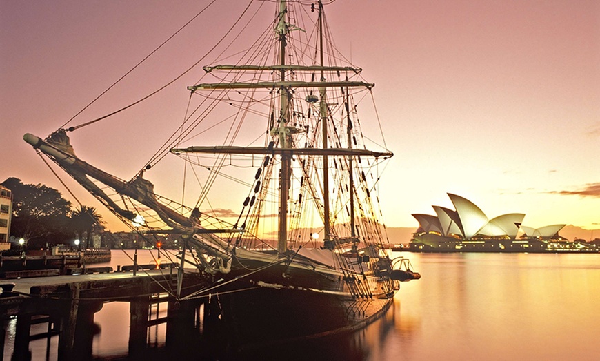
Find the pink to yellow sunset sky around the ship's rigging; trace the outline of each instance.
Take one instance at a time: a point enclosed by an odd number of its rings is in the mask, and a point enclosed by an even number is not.
[[[0,0],[0,182],[43,183],[74,201],[23,134],[57,130],[208,2]],[[179,75],[246,4],[214,3],[166,45],[166,61],[143,65],[74,124]],[[272,7],[263,2],[267,22]],[[524,213],[530,227],[600,229],[599,1],[337,0],[326,14],[337,48],[375,83],[394,152],[380,184],[388,227],[418,227],[411,214],[434,214],[432,205],[453,209],[453,193],[490,219]],[[152,156],[148,145],[181,122],[186,85],[199,77],[152,99],[149,110],[82,128],[71,136],[78,156],[132,177]],[[102,207],[65,182],[82,203]]]

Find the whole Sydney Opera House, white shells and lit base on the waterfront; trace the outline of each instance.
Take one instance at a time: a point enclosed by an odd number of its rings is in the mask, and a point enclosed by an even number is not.
[[[454,208],[433,206],[435,216],[413,214],[419,229],[410,240],[412,251],[434,252],[546,252],[583,251],[559,236],[565,225],[523,226],[525,214],[510,213],[488,219],[470,200],[448,194]]]

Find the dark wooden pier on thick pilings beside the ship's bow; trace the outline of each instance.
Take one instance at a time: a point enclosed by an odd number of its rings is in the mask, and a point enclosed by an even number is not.
[[[201,274],[186,272],[183,293],[189,294],[209,281]],[[166,323],[166,348],[181,353],[183,340],[199,335],[201,315],[206,318],[210,308],[206,299],[178,301],[177,272],[173,268],[121,271],[106,274],[79,274],[4,280],[0,285],[0,357],[4,357],[6,325],[17,319],[11,360],[32,360],[30,340],[58,336],[57,360],[91,360],[94,336],[94,313],[105,302],[129,302],[129,357],[145,358],[148,349],[148,327]],[[173,292],[171,292],[173,291]],[[167,304],[167,316],[150,320],[150,309],[159,303]],[[48,323],[43,335],[31,333],[32,324]],[[48,346],[49,347],[49,346]],[[178,351],[179,350],[179,351]],[[48,352],[48,349],[46,350]],[[48,357],[48,356],[46,356]],[[39,359],[39,355],[34,355]]]

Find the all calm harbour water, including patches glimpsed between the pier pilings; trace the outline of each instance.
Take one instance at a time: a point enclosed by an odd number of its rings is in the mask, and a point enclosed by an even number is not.
[[[422,278],[401,285],[385,317],[352,336],[288,345],[279,359],[599,360],[600,254],[392,256],[410,258]],[[151,260],[139,251],[140,263]],[[128,264],[114,251],[113,267]],[[128,311],[111,302],[96,314],[94,356],[126,353]],[[150,332],[155,346],[163,327]],[[46,340],[31,342],[34,360],[56,360],[57,341],[48,358]],[[11,353],[7,344],[4,360]]]

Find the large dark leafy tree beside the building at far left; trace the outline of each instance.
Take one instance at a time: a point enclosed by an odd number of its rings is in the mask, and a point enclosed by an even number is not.
[[[2,185],[12,191],[12,236],[25,238],[30,248],[66,243],[73,238],[71,203],[57,189],[23,184],[12,177]]]

